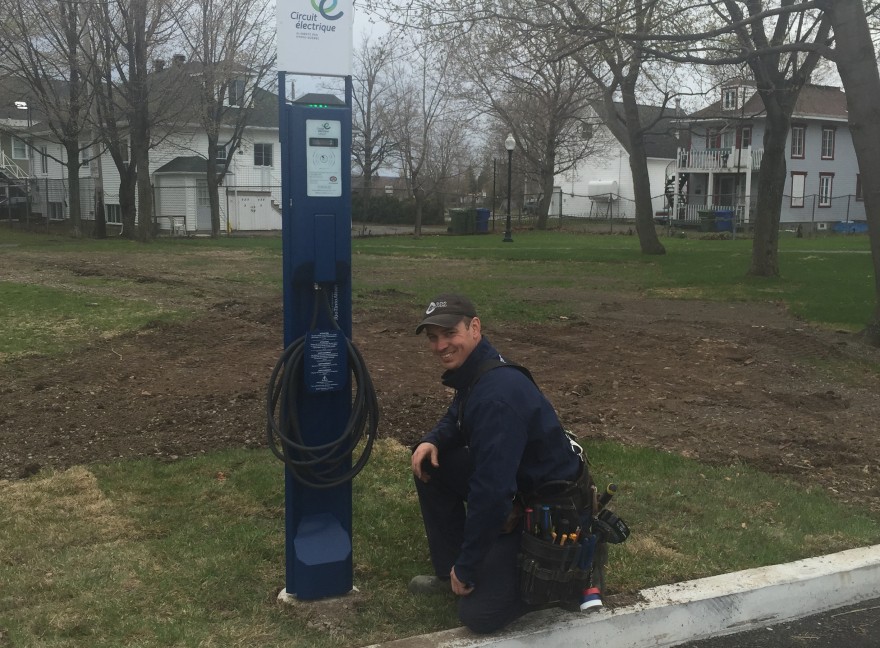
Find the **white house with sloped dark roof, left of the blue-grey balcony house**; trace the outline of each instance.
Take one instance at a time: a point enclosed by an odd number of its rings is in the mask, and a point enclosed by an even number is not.
[[[681,142],[673,123],[673,109],[640,106],[642,124],[648,129],[645,148],[654,211],[665,209],[664,187],[674,167]],[[583,160],[573,170],[558,175],[551,213],[589,218],[635,218],[635,194],[629,154],[604,125],[593,134],[600,153]],[[559,198],[562,198],[560,208]]]

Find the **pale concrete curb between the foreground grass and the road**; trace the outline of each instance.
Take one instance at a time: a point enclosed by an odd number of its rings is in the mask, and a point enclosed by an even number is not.
[[[559,609],[534,612],[490,636],[455,628],[368,648],[677,646],[876,598],[880,545],[653,587],[641,595],[642,602],[615,610],[583,615]]]

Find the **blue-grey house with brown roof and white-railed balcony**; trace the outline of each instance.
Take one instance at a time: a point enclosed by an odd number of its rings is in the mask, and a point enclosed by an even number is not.
[[[682,120],[689,145],[678,149],[666,184],[675,221],[696,223],[701,214],[719,213],[744,225],[753,221],[765,113],[754,82],[734,81],[721,87],[715,102]],[[865,209],[845,94],[836,87],[805,86],[791,122],[781,223],[856,228]]]

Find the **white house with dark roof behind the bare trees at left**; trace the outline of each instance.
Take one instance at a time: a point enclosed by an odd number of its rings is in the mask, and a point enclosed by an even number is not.
[[[182,61],[181,66],[189,66]],[[160,67],[161,70],[161,67]],[[192,68],[190,74],[197,74]],[[240,83],[246,83],[242,80]],[[235,82],[233,82],[234,87]],[[15,88],[12,94],[26,90],[14,80],[0,79],[3,88]],[[230,90],[226,101],[235,112],[242,92]],[[12,103],[12,101],[10,101]],[[278,97],[257,89],[241,144],[233,154],[229,171],[220,194],[221,230],[258,231],[281,229],[281,156],[278,143]],[[2,112],[2,111],[0,111]],[[0,193],[9,193],[10,185],[26,187],[29,195],[27,218],[63,221],[69,217],[66,154],[62,146],[40,123],[40,116],[28,113],[33,123],[24,128],[22,113],[12,113],[19,120],[5,130],[6,139],[0,139]],[[7,117],[0,114],[0,118]],[[9,117],[7,117],[7,120]],[[10,122],[11,123],[11,122]],[[234,124],[223,126],[219,135],[218,162],[225,160]],[[159,130],[155,128],[154,131]],[[13,134],[14,133],[14,134]],[[154,137],[157,133],[154,132]],[[83,140],[89,138],[83,135]],[[97,147],[82,143],[83,166],[80,167],[81,213],[83,225],[88,228],[95,219],[96,180],[101,179],[108,230],[118,232],[122,226],[119,205],[119,172],[109,153],[96,156]],[[9,150],[9,154],[7,154]],[[206,165],[208,140],[204,128],[193,117],[178,124],[167,137],[150,151],[150,178],[154,188],[154,208],[161,232],[190,235],[210,233],[210,209]],[[14,181],[14,182],[13,182]]]

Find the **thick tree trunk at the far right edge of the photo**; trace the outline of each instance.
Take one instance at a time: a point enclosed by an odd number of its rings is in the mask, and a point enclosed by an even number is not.
[[[835,58],[846,90],[849,129],[859,161],[874,267],[876,303],[862,334],[868,343],[880,346],[880,104],[877,103],[880,71],[874,57],[864,3],[861,0],[834,0],[822,4],[837,35]]]

